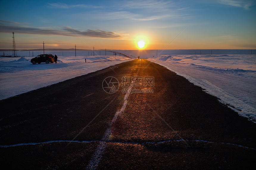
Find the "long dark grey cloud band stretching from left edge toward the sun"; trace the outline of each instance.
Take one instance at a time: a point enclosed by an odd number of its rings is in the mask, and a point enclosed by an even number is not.
[[[74,31],[79,36],[87,36],[93,38],[103,38],[103,39],[124,39],[127,34],[120,34],[114,32],[102,31],[100,29],[97,30],[86,30],[86,31]],[[52,29],[52,28],[32,28],[27,26],[20,25],[1,25],[0,24],[0,32],[1,33],[21,33],[21,34],[39,34],[39,35],[59,35],[59,36],[77,36],[70,28],[63,29]]]

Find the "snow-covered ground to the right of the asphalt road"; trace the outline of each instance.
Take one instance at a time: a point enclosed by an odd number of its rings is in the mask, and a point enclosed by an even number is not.
[[[160,55],[148,60],[201,86],[256,122],[256,55]]]

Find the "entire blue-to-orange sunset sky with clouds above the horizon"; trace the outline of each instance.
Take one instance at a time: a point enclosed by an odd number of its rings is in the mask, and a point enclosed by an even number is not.
[[[12,32],[16,49],[256,49],[256,1],[1,0],[0,49]]]

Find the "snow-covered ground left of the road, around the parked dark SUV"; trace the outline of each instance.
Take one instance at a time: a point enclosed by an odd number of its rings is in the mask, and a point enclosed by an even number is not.
[[[58,57],[57,64],[33,65],[32,58],[0,57],[0,100],[131,60],[123,56],[64,56]]]

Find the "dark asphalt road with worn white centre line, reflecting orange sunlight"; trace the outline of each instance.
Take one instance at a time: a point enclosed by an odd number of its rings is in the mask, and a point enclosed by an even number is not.
[[[0,105],[4,169],[256,166],[255,123],[145,59],[1,100]]]

